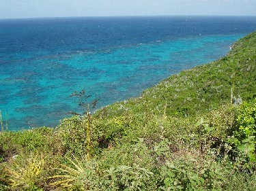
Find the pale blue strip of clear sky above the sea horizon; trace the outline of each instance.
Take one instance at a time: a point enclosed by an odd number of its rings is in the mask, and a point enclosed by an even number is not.
[[[256,0],[0,0],[0,18],[256,16]]]

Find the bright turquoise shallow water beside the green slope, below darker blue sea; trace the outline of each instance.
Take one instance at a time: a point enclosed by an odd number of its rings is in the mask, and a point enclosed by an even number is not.
[[[55,126],[69,116],[68,111],[79,111],[70,94],[81,87],[87,94],[100,97],[96,109],[136,97],[173,73],[221,58],[244,35],[199,33],[148,40],[130,37],[130,43],[127,39],[127,43],[106,42],[104,46],[100,40],[89,39],[96,45],[87,42],[83,48],[81,44],[74,48],[61,38],[47,48],[45,41],[51,39],[44,38],[46,48],[34,43],[12,54],[6,54],[9,50],[5,47],[0,52],[0,110],[3,118],[7,116],[10,130]]]

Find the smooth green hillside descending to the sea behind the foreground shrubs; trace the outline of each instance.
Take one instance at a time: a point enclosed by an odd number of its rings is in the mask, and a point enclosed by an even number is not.
[[[139,98],[108,107],[108,114],[131,112],[161,113],[165,107],[171,116],[195,116],[230,103],[230,91],[244,101],[256,97],[256,39],[247,35],[233,45],[227,56],[207,65],[171,75]],[[120,105],[124,105],[120,109]]]

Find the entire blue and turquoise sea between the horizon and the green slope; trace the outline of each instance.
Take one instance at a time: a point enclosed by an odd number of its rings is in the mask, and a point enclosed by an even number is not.
[[[256,17],[0,20],[0,110],[8,128],[55,126],[80,111],[136,97],[173,73],[221,58],[256,30]]]

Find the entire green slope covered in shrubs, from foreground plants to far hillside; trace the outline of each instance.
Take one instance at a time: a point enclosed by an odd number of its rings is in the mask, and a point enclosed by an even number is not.
[[[85,116],[57,128],[2,130],[0,190],[256,190],[255,45],[92,116],[81,92]]]

